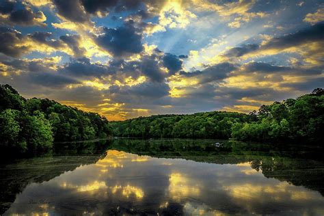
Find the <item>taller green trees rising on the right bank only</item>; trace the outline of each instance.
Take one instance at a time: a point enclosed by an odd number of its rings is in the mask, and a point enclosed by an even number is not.
[[[262,105],[258,120],[232,126],[232,137],[249,141],[299,141],[323,144],[324,90]]]

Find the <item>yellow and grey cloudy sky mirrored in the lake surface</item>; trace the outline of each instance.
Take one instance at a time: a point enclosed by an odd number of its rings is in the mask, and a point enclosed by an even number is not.
[[[265,178],[249,163],[219,165],[109,150],[92,165],[32,183],[6,212],[36,215],[178,213],[323,215],[320,193]]]

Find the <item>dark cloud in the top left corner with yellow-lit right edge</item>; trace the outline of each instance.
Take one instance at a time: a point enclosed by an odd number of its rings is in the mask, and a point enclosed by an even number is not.
[[[14,9],[16,7],[16,2],[3,1],[0,3],[0,14],[8,15],[8,18],[0,18],[1,25],[42,25],[43,20],[46,20],[43,12],[34,12],[31,8],[23,6],[23,8]]]

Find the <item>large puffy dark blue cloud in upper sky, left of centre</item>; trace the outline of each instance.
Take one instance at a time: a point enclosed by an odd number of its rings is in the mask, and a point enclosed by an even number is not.
[[[104,27],[104,33],[97,36],[95,41],[115,57],[129,56],[143,51],[142,34],[139,30],[141,29],[135,28],[132,21],[116,29]]]

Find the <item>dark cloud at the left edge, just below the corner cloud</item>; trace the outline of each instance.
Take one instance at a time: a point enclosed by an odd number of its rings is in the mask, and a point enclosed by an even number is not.
[[[29,51],[29,47],[25,45],[18,46],[25,41],[25,36],[20,32],[0,27],[0,53],[12,57],[20,57]]]

